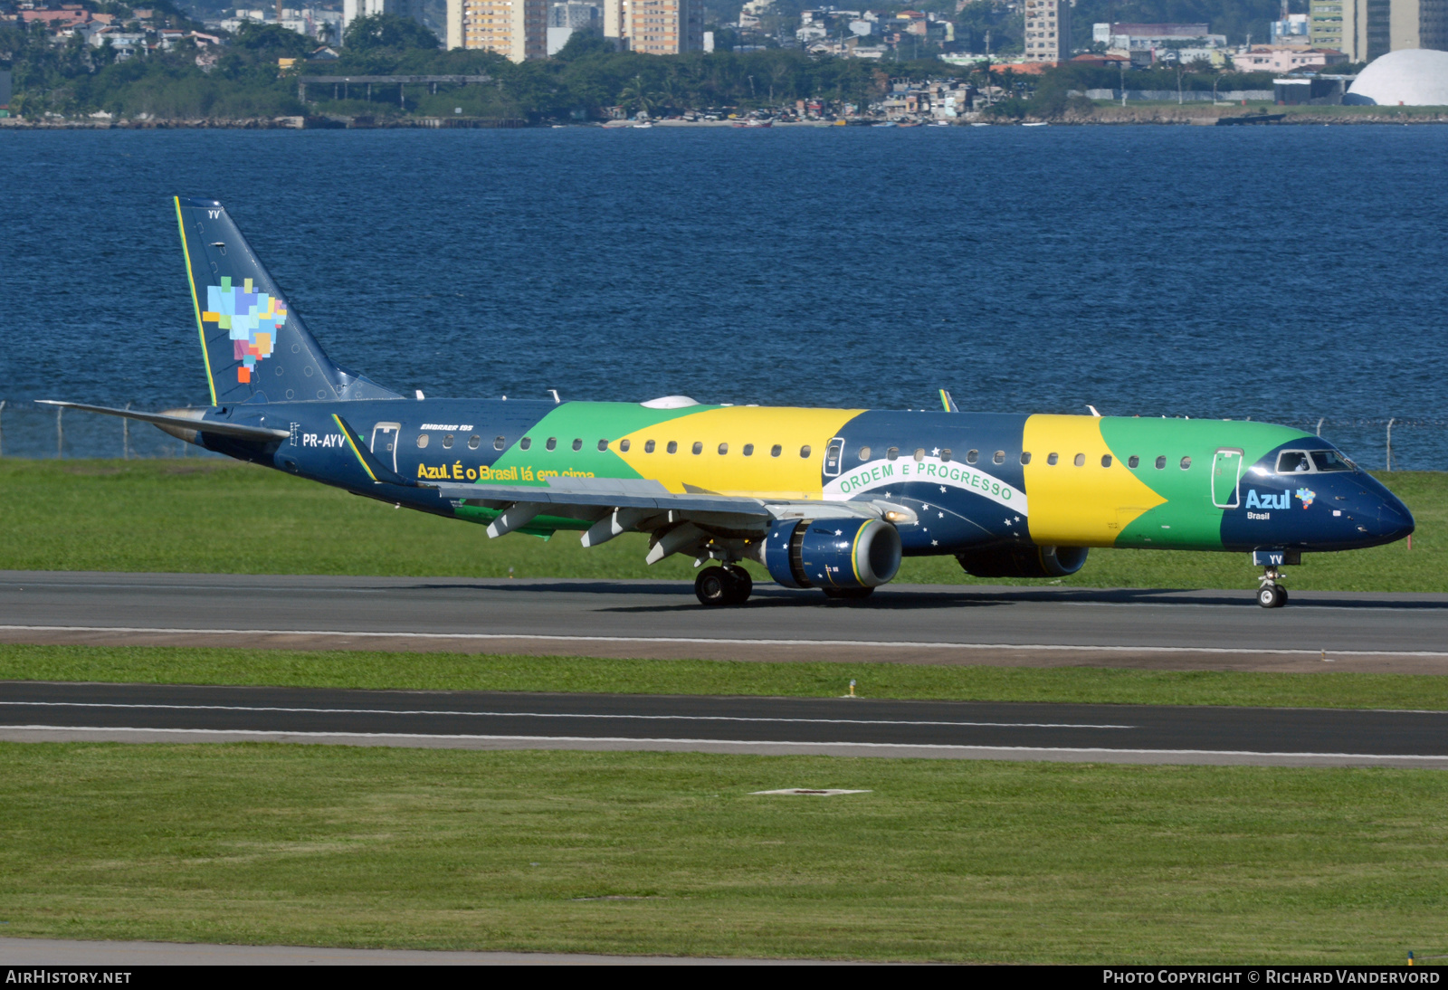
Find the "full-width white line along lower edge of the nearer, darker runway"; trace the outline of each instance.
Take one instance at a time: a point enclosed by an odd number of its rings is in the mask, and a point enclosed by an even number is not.
[[[181,728],[136,728],[106,725],[4,725],[3,729],[29,729],[49,732],[169,732],[177,735],[255,735],[255,737],[303,737],[303,738],[376,738],[376,740],[475,740],[479,742],[668,742],[675,745],[743,745],[760,748],[766,745],[814,745],[869,750],[970,750],[1005,753],[1080,753],[1102,756],[1216,756],[1216,757],[1279,757],[1295,760],[1432,760],[1448,763],[1448,754],[1418,753],[1284,753],[1273,750],[1138,750],[1105,745],[951,745],[948,742],[812,742],[801,740],[692,740],[672,737],[630,735],[466,735],[453,732],[288,732],[284,729],[181,729]]]

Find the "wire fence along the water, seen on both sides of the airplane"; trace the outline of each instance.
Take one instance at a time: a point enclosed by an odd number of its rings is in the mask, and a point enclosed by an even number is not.
[[[1448,420],[1325,415],[1273,421],[1315,433],[1371,470],[1448,470]],[[146,423],[0,399],[0,457],[217,456]]]

